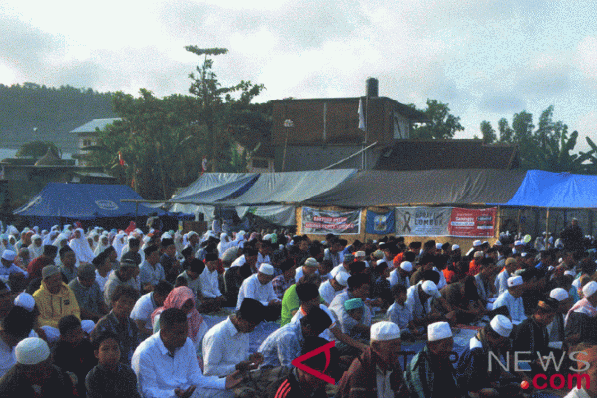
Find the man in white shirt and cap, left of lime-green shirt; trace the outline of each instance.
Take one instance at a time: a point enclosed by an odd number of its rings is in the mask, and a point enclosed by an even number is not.
[[[238,291],[236,310],[238,311],[241,308],[242,300],[245,297],[253,298],[267,307],[265,320],[273,321],[278,319],[282,310],[282,302],[273,291],[272,279],[273,266],[266,263],[261,264],[259,272],[242,281],[241,288]]]

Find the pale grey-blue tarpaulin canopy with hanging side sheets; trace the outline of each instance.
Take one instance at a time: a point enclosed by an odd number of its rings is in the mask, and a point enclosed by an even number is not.
[[[338,169],[261,174],[205,173],[171,199],[188,203],[178,203],[170,211],[193,214],[201,211],[210,220],[213,218],[213,206],[233,206],[239,217],[250,212],[274,224],[290,226],[295,224],[293,203],[333,189],[355,175],[356,171]],[[193,203],[200,203],[201,206]]]

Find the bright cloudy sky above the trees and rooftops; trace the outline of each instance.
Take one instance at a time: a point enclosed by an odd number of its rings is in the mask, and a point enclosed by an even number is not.
[[[195,44],[228,48],[219,78],[263,83],[257,101],[354,97],[374,76],[402,103],[449,103],[458,138],[553,104],[596,140],[596,16],[593,1],[0,0],[0,83],[187,93]]]

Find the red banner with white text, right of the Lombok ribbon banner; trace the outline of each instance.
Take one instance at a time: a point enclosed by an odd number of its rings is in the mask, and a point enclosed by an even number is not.
[[[453,208],[448,235],[462,237],[492,237],[496,223],[496,208]]]

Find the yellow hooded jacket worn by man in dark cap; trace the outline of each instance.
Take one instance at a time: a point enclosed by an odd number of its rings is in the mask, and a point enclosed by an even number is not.
[[[60,318],[67,315],[74,315],[81,320],[81,311],[75,294],[64,282],[57,294],[51,294],[42,281],[41,287],[33,293],[33,298],[41,312],[38,317],[39,326],[58,328]]]

